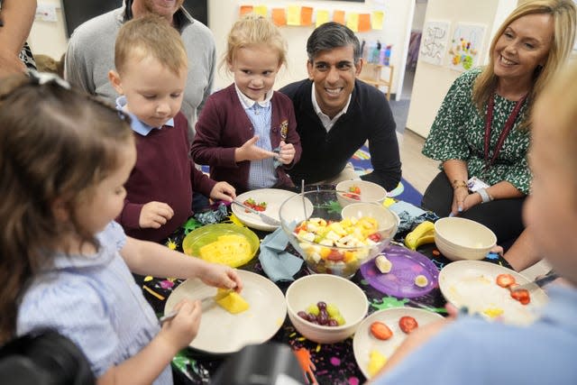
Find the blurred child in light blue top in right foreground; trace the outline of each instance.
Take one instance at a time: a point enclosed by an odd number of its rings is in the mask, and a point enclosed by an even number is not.
[[[524,219],[538,252],[565,284],[531,325],[463,316],[408,335],[374,384],[577,384],[577,65],[537,98],[529,165],[531,196]]]

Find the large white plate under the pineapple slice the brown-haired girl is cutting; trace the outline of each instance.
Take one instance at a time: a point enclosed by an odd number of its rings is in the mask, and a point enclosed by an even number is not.
[[[190,347],[214,354],[234,353],[244,345],[264,343],[279,331],[287,316],[287,304],[280,289],[259,274],[237,272],[243,280],[241,296],[249,303],[249,309],[234,315],[215,303],[206,306]],[[200,299],[215,294],[216,289],[201,280],[186,280],[170,294],[164,314],[182,298]]]

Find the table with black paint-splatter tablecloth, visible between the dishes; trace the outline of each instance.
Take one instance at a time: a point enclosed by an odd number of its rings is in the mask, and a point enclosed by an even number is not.
[[[224,222],[231,222],[231,217],[234,218],[234,215],[230,214]],[[180,246],[184,239],[185,231],[191,230],[190,227],[191,226],[188,226],[188,229],[180,229],[176,234],[173,234],[173,236],[169,238],[170,246],[182,251]],[[192,227],[194,227],[194,225]],[[254,232],[260,239],[269,234],[260,231]],[[406,233],[397,234],[395,240],[397,242],[402,242],[404,235],[406,235]],[[446,263],[450,262],[444,258],[443,255],[436,252],[435,244],[426,244],[417,249],[417,251],[426,255],[431,261],[433,261],[439,270],[441,270]],[[507,261],[503,260],[502,257],[495,257],[494,259],[487,261],[509,267]],[[252,261],[242,266],[240,269],[250,270],[266,277],[258,260],[258,253]],[[303,268],[298,271],[295,279],[307,274],[308,271],[306,264],[303,264]],[[433,289],[426,296],[409,300],[408,298],[389,297],[386,294],[381,293],[379,290],[372,288],[366,280],[363,280],[360,270],[357,271],[352,280],[354,283],[359,285],[367,295],[370,302],[369,314],[384,308],[404,306],[418,307],[419,304],[440,314],[445,314],[445,300],[438,288]],[[154,279],[151,277],[146,278],[143,282],[142,288],[144,296],[148,299],[154,311],[159,316],[164,312],[164,304],[166,299],[169,298],[171,291],[178,287],[181,282],[182,280]],[[290,283],[291,282],[279,282],[279,289],[284,293],[286,289],[288,289]],[[316,381],[319,384],[357,385],[364,383],[366,380],[354,359],[353,338],[348,338],[338,344],[316,344],[298,334],[293,325],[291,325],[289,317],[287,316],[284,324],[280,327],[279,332],[272,337],[272,340],[283,344],[289,344],[293,350],[300,354],[301,359],[307,360],[312,364],[310,367],[313,367],[313,365],[316,367],[315,371],[309,371],[312,375],[307,374],[308,380],[311,383]],[[224,362],[224,358],[225,357],[207,355],[206,353],[193,351],[192,349],[181,351],[172,362],[173,365],[178,368],[179,375],[180,373],[183,374],[181,379],[175,379],[175,383],[208,383],[210,376],[214,375],[220,364]]]

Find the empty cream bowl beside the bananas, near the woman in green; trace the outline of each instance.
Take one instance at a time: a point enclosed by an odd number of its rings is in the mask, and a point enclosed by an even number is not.
[[[445,217],[435,222],[435,244],[451,261],[482,260],[497,243],[489,227],[470,219]]]

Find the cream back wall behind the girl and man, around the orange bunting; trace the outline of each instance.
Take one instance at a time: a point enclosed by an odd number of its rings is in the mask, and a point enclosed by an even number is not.
[[[39,0],[39,4],[57,5],[58,23],[35,21],[29,37],[34,53],[43,53],[59,59],[66,51],[67,37],[65,24],[62,19],[60,0]],[[283,7],[294,5],[295,1],[237,1],[237,0],[208,0],[208,23],[215,34],[216,50],[220,58],[224,52],[226,35],[238,17],[240,5],[268,5],[269,7]],[[345,12],[371,13],[373,10],[385,12],[385,21],[382,31],[358,33],[359,39],[366,41],[380,40],[384,44],[392,44],[391,62],[397,69],[404,68],[407,57],[410,25],[413,19],[415,0],[365,0],[364,3],[343,1],[299,1],[298,5],[312,6],[315,9],[342,9]],[[277,87],[282,87],[292,81],[307,77],[307,38],[314,27],[282,27],[281,32],[289,45],[289,67],[277,78]],[[393,79],[392,92],[397,91],[402,84],[402,71],[397,70]],[[218,71],[215,78],[215,87],[225,87],[232,79],[225,71]]]

